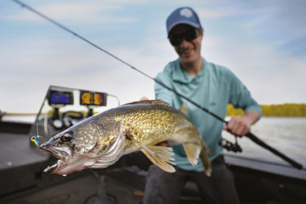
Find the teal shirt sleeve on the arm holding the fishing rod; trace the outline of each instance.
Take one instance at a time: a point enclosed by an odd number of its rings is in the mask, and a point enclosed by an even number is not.
[[[235,108],[242,108],[246,110],[254,110],[262,116],[262,110],[260,105],[252,98],[250,91],[244,86],[244,84],[229,71],[230,77],[230,99],[229,102],[233,104]]]

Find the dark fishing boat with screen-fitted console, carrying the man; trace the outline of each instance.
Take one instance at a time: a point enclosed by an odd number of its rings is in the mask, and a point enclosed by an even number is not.
[[[39,142],[107,108],[102,92],[50,86],[36,121],[4,121],[0,114],[0,203],[2,204],[141,204],[151,162],[141,153],[124,155],[105,169],[86,169],[67,176],[45,175],[55,163]],[[306,170],[287,163],[226,151],[241,204],[305,204]],[[200,204],[197,185],[188,182],[180,204]]]

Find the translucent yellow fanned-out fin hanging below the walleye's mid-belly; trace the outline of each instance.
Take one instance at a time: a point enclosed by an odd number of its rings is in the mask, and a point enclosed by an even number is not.
[[[175,165],[175,163],[170,161],[173,161],[174,159],[169,157],[169,155],[174,155],[171,147],[144,146],[140,151],[142,151],[153,164],[162,170],[170,173],[175,172],[175,168],[170,165]]]

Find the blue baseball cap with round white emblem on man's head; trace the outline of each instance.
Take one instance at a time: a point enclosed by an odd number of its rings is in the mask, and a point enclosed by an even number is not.
[[[202,27],[198,14],[191,7],[177,8],[168,16],[166,20],[168,36],[171,29],[178,24],[188,24],[198,29]]]

